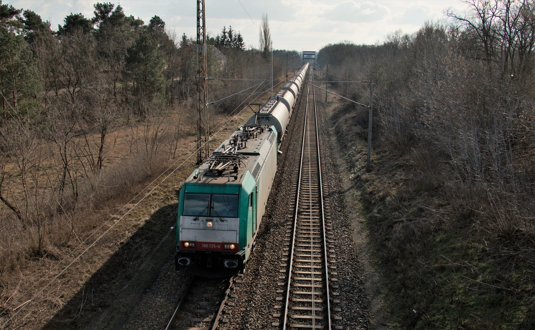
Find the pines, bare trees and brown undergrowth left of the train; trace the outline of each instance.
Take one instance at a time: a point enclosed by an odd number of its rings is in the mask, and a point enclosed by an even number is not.
[[[226,55],[208,49],[211,77],[269,80],[261,51],[245,50],[232,27],[209,43]],[[146,23],[96,3],[94,17],[71,13],[53,31],[32,10],[0,2],[0,273],[62,255],[99,221],[88,212],[178,156],[195,135],[195,71],[195,41],[158,16]],[[210,80],[210,101],[250,85]],[[211,106],[212,131],[268,85]]]

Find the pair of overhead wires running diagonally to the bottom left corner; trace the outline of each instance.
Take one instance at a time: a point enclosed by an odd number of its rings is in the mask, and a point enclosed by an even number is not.
[[[257,85],[259,85],[259,84],[257,84]],[[253,87],[254,87],[254,86],[253,86]],[[258,86],[257,88],[259,88],[259,86]],[[260,95],[256,96],[256,97],[253,99],[253,101],[256,100],[259,96],[260,96]],[[249,97],[247,97],[245,100],[243,100],[243,101],[239,104],[238,107],[236,107],[236,108],[235,108],[229,115],[227,115],[225,118],[223,118],[223,121],[225,121],[225,119],[227,119],[228,117],[230,117],[230,116],[233,114],[234,111],[236,111],[239,107],[241,107],[241,106],[243,105],[243,103],[246,102],[246,100],[247,100],[248,98],[249,98]],[[245,109],[246,109],[246,107],[244,107],[240,112],[238,112],[238,114],[236,114],[234,117],[232,117],[232,119],[231,119],[230,121],[226,122],[226,123],[225,123],[225,124],[224,124],[224,125],[217,131],[217,132],[213,133],[213,134],[212,134],[212,137],[209,138],[208,141],[212,140],[212,139],[216,136],[216,134],[218,134],[221,130],[223,130],[223,128],[224,128],[226,125],[228,125],[229,123],[231,123],[231,122],[234,120],[234,118],[235,118],[236,116],[238,116],[239,114],[241,114],[241,112],[242,112],[243,110],[245,110]],[[154,190],[155,190],[159,185],[161,185],[167,178],[169,178],[169,177],[170,177],[176,170],[178,170],[178,169],[179,169],[179,168],[180,168],[186,161],[188,161],[188,160],[190,159],[190,157],[192,157],[193,155],[195,155],[195,154],[197,153],[197,151],[198,151],[200,148],[203,148],[204,145],[208,143],[208,141],[204,142],[204,144],[203,144],[202,146],[200,146],[200,147],[197,148],[193,153],[191,153],[191,154],[187,157],[186,160],[184,160],[182,163],[180,163],[180,165],[177,166],[177,168],[175,168],[174,170],[172,170],[171,173],[170,173],[169,175],[167,175],[164,179],[162,179],[161,182],[159,182],[154,188],[152,188],[147,194],[145,194],[145,196],[144,196],[143,198],[141,198],[139,201],[137,201],[136,204],[135,204],[134,206],[132,206],[132,207],[131,207],[131,208],[130,208],[124,215],[122,215],[117,221],[115,221],[115,222],[110,226],[110,228],[108,228],[106,231],[104,231],[102,235],[100,235],[100,236],[99,236],[93,243],[91,243],[85,250],[83,250],[83,251],[79,254],[78,257],[76,257],[73,261],[71,261],[71,263],[68,264],[68,265],[67,265],[67,266],[66,266],[66,267],[65,267],[59,274],[57,274],[55,277],[53,277],[53,279],[52,279],[48,284],[46,284],[41,290],[39,290],[38,292],[36,292],[36,293],[32,296],[32,298],[28,299],[28,301],[26,301],[26,302],[20,304],[20,305],[17,306],[15,309],[13,309],[13,311],[15,311],[15,310],[17,310],[17,311],[16,311],[14,314],[12,314],[12,315],[11,315],[11,316],[10,316],[10,317],[9,317],[9,318],[8,318],[8,319],[7,319],[7,320],[0,326],[0,328],[4,328],[5,325],[6,325],[9,321],[11,321],[15,316],[17,316],[17,314],[18,314],[21,310],[23,310],[24,307],[25,307],[26,305],[28,305],[29,302],[33,301],[33,299],[35,299],[35,297],[39,296],[39,295],[41,294],[41,292],[44,291],[44,289],[46,289],[47,287],[49,287],[50,284],[51,284],[53,281],[55,281],[60,275],[62,275],[62,274],[63,274],[63,273],[64,273],[64,272],[65,272],[65,271],[66,271],[66,270],[67,270],[67,269],[68,269],[68,268],[69,268],[75,261],[77,261],[78,259],[80,259],[80,257],[81,257],[83,254],[85,254],[91,247],[93,247],[98,241],[100,241],[100,239],[101,239],[101,238],[102,238],[108,231],[110,231],[111,228],[113,228],[117,223],[119,223],[119,222],[120,222],[120,221],[121,221],[127,214],[129,214],[129,213],[130,213],[130,212],[131,212],[137,205],[139,205],[141,201],[143,201],[145,198],[147,198],[147,196],[149,196],[150,193],[151,193],[152,191],[154,191]],[[148,187],[150,187],[150,185],[152,185],[154,182],[156,182],[156,180],[157,180],[159,177],[163,176],[163,175],[165,174],[166,171],[168,171],[169,169],[171,169],[176,163],[178,163],[178,162],[180,161],[180,159],[182,159],[182,157],[184,157],[187,153],[189,153],[190,151],[192,151],[193,148],[194,148],[194,147],[189,148],[188,151],[186,151],[184,154],[182,154],[182,155],[179,157],[179,159],[177,159],[173,164],[171,164],[171,166],[169,166],[165,171],[163,171],[161,175],[159,175],[159,176],[158,176],[157,178],[155,178],[149,185],[147,185],[143,190],[141,190],[139,193],[137,193],[136,196],[135,196],[134,198],[132,198],[127,204],[125,204],[123,207],[121,207],[121,208],[119,209],[119,211],[117,211],[117,213],[115,213],[113,216],[111,216],[110,219],[109,219],[108,221],[104,222],[99,228],[97,228],[95,231],[93,231],[93,233],[91,233],[91,235],[89,235],[89,236],[88,236],[82,243],[80,243],[80,245],[77,246],[72,252],[70,252],[69,254],[67,254],[67,256],[66,256],[65,258],[63,258],[62,260],[60,260],[60,261],[56,264],[56,266],[50,268],[50,270],[47,272],[47,274],[43,275],[43,276],[41,277],[41,279],[40,279],[39,281],[35,282],[35,283],[32,285],[32,287],[30,287],[29,289],[27,289],[27,290],[24,292],[24,294],[26,294],[29,290],[31,290],[32,288],[34,288],[37,284],[39,284],[40,282],[42,282],[42,281],[45,279],[46,276],[48,276],[53,270],[55,270],[55,269],[57,268],[57,266],[59,266],[60,264],[62,264],[63,261],[65,261],[68,257],[70,257],[71,254],[72,254],[74,251],[77,251],[77,250],[79,249],[79,247],[89,239],[89,237],[93,236],[93,235],[94,235],[98,230],[100,230],[106,223],[109,223],[112,219],[114,219],[114,217],[115,217],[121,210],[123,210],[123,209],[126,207],[126,205],[131,204],[131,202],[132,202],[133,200],[135,200],[136,197],[140,196],[140,194],[141,194],[143,191],[147,190]],[[23,294],[23,295],[24,295],[24,294]],[[12,304],[11,306],[13,306],[13,305],[14,305],[14,304]],[[2,314],[4,314],[7,310],[9,310],[9,308],[5,308],[5,309],[0,313],[0,316],[1,316]]]

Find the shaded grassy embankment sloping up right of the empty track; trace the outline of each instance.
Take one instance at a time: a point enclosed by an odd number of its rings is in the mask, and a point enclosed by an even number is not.
[[[394,326],[535,328],[531,258],[484,230],[487,215],[477,201],[467,205],[470,191],[457,188],[444,157],[425,146],[401,153],[376,139],[366,172],[368,110],[330,102]]]

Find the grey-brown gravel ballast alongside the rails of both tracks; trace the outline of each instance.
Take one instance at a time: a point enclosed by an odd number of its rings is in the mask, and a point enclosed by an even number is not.
[[[285,235],[291,226],[293,216],[293,201],[289,198],[295,191],[293,184],[299,165],[299,151],[304,120],[305,97],[297,101],[294,114],[287,128],[285,139],[281,145],[282,155],[279,155],[277,177],[273,183],[272,193],[266,206],[266,213],[257,236],[254,252],[247,263],[246,271],[239,276],[231,288],[225,306],[226,313],[219,329],[276,329],[272,322],[279,322],[280,317],[273,314],[284,313],[276,306],[281,301],[276,298],[282,296],[277,292],[284,287],[278,284],[284,282],[279,276],[280,264],[283,256]],[[368,313],[368,299],[363,287],[363,272],[355,252],[353,232],[351,231],[348,210],[346,207],[343,181],[338,169],[334,144],[328,129],[328,114],[324,103],[317,103],[320,113],[320,151],[322,155],[325,213],[328,221],[332,221],[332,230],[328,231],[330,245],[334,245],[328,253],[330,260],[337,265],[330,279],[338,288],[332,287],[332,307],[340,309],[332,313],[341,320],[333,320],[333,326],[343,329],[366,329],[370,326]],[[331,232],[332,231],[332,232]],[[172,311],[177,305],[181,292],[184,291],[191,275],[182,270],[174,271],[172,256],[169,263],[161,268],[157,280],[142,298],[142,302],[132,312],[125,329],[155,329],[165,328]],[[336,283],[334,283],[336,282]],[[339,302],[334,302],[337,300]]]

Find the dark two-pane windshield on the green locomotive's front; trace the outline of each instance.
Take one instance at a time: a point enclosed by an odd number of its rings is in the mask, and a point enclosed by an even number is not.
[[[182,214],[187,216],[236,217],[238,216],[238,195],[186,192]]]

